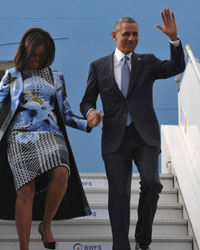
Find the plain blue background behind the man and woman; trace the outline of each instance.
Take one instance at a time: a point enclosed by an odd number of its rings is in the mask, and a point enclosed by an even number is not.
[[[116,19],[133,17],[139,25],[136,53],[169,58],[169,40],[154,25],[162,24],[160,11],[174,11],[183,47],[189,44],[200,58],[200,1],[192,0],[0,0],[0,60],[12,60],[24,32],[41,27],[55,39],[53,69],[64,74],[68,98],[75,114],[84,94],[90,63],[115,49],[111,32]],[[177,124],[177,91],[174,78],[154,84],[154,106],[160,124]],[[102,109],[98,100],[98,109]],[[90,134],[68,128],[80,172],[105,172],[101,158],[102,125]],[[134,171],[135,167],[134,167]]]

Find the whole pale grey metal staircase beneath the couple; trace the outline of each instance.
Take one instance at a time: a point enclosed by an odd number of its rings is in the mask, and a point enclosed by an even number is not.
[[[52,229],[58,250],[111,250],[111,228],[107,210],[107,179],[105,174],[81,174],[82,183],[91,205],[92,215],[68,221],[54,221]],[[164,185],[153,225],[152,250],[193,250],[189,222],[181,202],[181,192],[173,175],[161,175]],[[133,175],[131,195],[130,242],[134,249],[137,220],[139,176]],[[180,202],[179,202],[180,201]],[[117,208],[116,208],[117,209]],[[44,250],[38,223],[33,222],[30,250]],[[13,221],[0,221],[0,250],[18,250]]]

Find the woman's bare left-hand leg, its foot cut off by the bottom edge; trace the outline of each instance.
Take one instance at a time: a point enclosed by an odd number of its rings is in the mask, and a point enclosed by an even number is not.
[[[20,250],[29,250],[34,194],[34,180],[17,191],[15,221]]]

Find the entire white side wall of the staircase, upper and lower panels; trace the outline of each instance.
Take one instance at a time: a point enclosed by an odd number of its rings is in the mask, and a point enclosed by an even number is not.
[[[161,126],[162,173],[177,177],[198,248],[200,248],[200,64],[189,45],[178,92],[179,126]]]

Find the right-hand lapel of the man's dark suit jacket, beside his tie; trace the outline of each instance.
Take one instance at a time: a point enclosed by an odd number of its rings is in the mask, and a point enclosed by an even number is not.
[[[140,73],[141,66],[142,66],[142,57],[136,53],[133,53],[131,59],[131,75],[128,88],[128,95],[130,95],[137,87],[138,84],[137,77]]]

